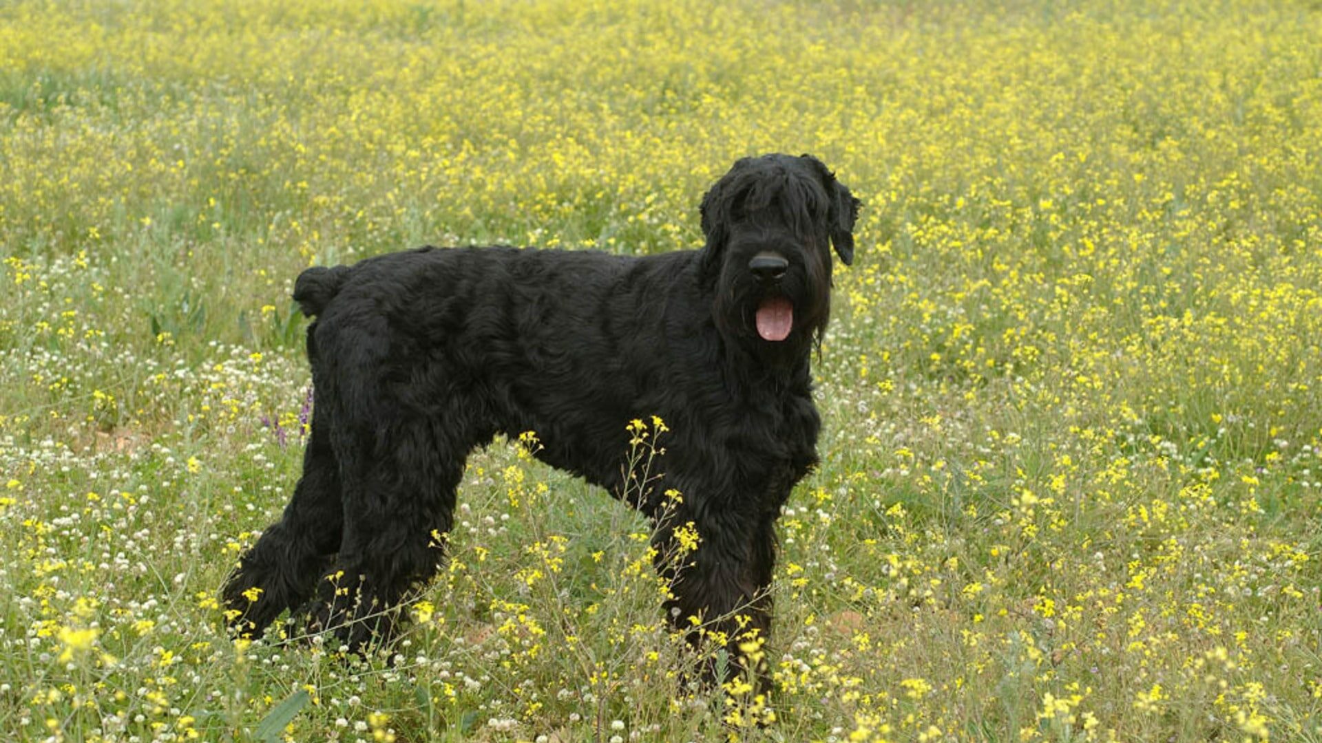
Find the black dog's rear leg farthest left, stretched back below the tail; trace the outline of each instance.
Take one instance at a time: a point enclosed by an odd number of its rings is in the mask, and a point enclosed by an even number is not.
[[[307,602],[340,547],[340,465],[329,431],[329,410],[316,410],[293,497],[280,521],[239,558],[222,590],[230,625],[238,632],[260,635],[282,611]]]

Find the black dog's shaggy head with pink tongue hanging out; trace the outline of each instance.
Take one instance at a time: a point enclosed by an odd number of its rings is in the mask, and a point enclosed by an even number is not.
[[[853,263],[858,206],[810,155],[735,163],[701,206],[701,263],[720,332],[764,356],[798,356],[820,337],[830,315],[830,250]]]

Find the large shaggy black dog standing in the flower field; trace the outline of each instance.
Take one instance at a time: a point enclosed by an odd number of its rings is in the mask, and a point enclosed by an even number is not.
[[[709,621],[739,662],[769,628],[780,506],[817,461],[809,357],[858,206],[816,157],[768,155],[703,197],[702,250],[423,247],[304,271],[312,435],[225,587],[234,624],[258,633],[319,594],[312,627],[357,648],[436,571],[469,451],[535,431],[539,459],[624,497],[625,424],[658,415],[664,484],[628,497],[657,521],[666,615]],[[701,542],[676,565],[687,522]]]

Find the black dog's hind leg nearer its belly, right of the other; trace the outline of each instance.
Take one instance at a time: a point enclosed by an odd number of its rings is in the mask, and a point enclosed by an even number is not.
[[[426,418],[397,419],[374,450],[354,447],[379,456],[345,461],[344,542],[309,629],[333,631],[354,652],[374,637],[389,640],[395,606],[435,575],[444,557],[469,448],[455,434]]]

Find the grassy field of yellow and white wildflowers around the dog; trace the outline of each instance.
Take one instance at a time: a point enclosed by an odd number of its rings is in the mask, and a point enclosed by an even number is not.
[[[767,151],[866,204],[773,722],[509,444],[389,652],[225,635],[300,268],[694,247]],[[12,0],[0,253],[5,739],[1322,740],[1315,0]]]

